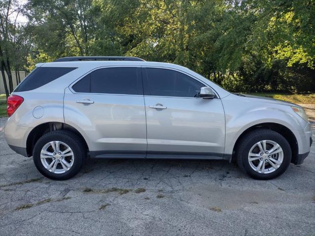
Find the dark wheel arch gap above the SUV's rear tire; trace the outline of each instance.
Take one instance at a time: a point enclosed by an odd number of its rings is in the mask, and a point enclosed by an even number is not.
[[[44,134],[54,131],[54,130],[68,130],[70,132],[75,133],[79,136],[81,141],[84,143],[85,148],[87,151],[89,150],[89,146],[84,139],[83,135],[73,126],[63,123],[63,122],[46,122],[37,125],[32,129],[32,131],[29,133],[27,141],[26,141],[26,151],[28,156],[32,156],[33,148],[37,142],[37,140]]]

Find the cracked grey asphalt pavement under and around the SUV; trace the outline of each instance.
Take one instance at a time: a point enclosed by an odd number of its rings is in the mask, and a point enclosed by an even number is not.
[[[1,236],[315,235],[314,144],[302,165],[268,181],[225,161],[143,159],[90,160],[53,181],[7,146],[5,120]]]

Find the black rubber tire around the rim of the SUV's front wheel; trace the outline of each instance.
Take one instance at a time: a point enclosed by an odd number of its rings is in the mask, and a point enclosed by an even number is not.
[[[272,173],[262,174],[254,171],[250,166],[248,155],[255,143],[262,140],[271,140],[281,146],[284,152],[284,159],[280,167]],[[284,173],[291,162],[291,147],[281,134],[270,129],[256,129],[241,138],[236,148],[236,158],[238,166],[255,179],[271,179]]]

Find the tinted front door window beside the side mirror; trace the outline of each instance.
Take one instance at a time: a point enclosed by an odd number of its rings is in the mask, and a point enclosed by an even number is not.
[[[204,85],[181,72],[146,68],[145,94],[171,97],[197,97]]]

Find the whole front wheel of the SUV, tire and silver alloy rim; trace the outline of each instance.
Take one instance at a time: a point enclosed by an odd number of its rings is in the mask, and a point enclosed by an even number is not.
[[[284,173],[291,161],[286,139],[269,129],[254,130],[245,135],[236,149],[241,169],[256,179],[271,179]]]

